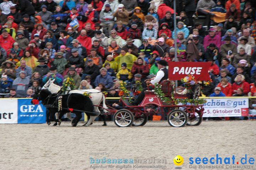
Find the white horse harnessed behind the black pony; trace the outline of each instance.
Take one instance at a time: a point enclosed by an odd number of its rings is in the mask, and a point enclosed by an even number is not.
[[[42,87],[42,89],[48,89],[51,93],[57,93],[60,90],[60,86],[54,84],[55,79],[53,80],[48,80],[47,83]],[[98,105],[100,105],[100,103],[103,103],[103,108],[108,109],[105,103],[105,96],[101,93],[101,91],[96,90],[96,89],[87,89],[87,90],[71,90],[69,91],[69,93],[79,93],[79,94],[84,94],[84,92],[89,92],[91,93],[91,101],[92,104],[94,104],[94,112],[100,112],[100,110],[98,109]],[[97,106],[96,106],[97,105]],[[107,112],[107,110],[103,110],[105,113]],[[58,116],[58,114],[55,114],[56,118]],[[69,118],[71,121],[73,120],[70,117],[70,113],[67,113],[67,118]],[[89,126],[91,125],[91,123],[94,122],[94,120],[97,118],[97,116],[90,116],[90,119],[87,121],[87,123],[85,124],[85,126]]]

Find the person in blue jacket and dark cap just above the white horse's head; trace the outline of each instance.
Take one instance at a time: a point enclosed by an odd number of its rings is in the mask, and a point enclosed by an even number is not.
[[[63,77],[61,74],[57,73],[57,68],[55,66],[52,66],[50,69],[49,69],[49,72],[43,76],[43,84],[46,84],[46,82],[48,80],[53,80],[55,79],[54,81],[54,84],[57,84],[59,86],[62,86],[62,83],[63,83]]]

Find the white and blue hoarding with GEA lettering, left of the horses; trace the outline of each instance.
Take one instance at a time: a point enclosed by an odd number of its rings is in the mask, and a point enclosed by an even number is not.
[[[45,123],[46,108],[31,104],[31,98],[0,99],[0,124]]]

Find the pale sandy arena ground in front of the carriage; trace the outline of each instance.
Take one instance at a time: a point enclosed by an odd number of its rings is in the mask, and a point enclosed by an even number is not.
[[[90,164],[90,157],[155,157],[166,159],[166,164],[161,165],[165,165],[167,170],[175,167],[194,170],[195,168],[189,168],[190,157],[216,158],[216,154],[223,159],[235,155],[236,160],[247,154],[247,165],[249,158],[253,157],[255,164],[251,169],[256,169],[256,121],[203,121],[199,126],[184,128],[173,128],[166,121],[148,122],[143,127],[129,128],[118,128],[113,122],[107,124],[108,126],[101,126],[100,122],[91,127],[81,127],[82,123],[79,123],[76,128],[71,127],[70,122],[55,127],[52,124],[0,124],[0,169],[89,170],[93,169],[90,168],[91,165],[106,165]],[[104,155],[90,155],[103,152]],[[183,165],[174,164],[176,155],[183,157]],[[154,169],[133,168],[133,164],[111,165],[114,168],[95,169],[121,169],[116,168],[116,165],[132,165],[130,170]],[[230,170],[235,169],[238,168]]]

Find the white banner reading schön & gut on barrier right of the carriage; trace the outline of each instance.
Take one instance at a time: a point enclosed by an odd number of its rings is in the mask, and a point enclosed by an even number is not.
[[[206,101],[203,117],[248,116],[248,98],[208,98]]]

